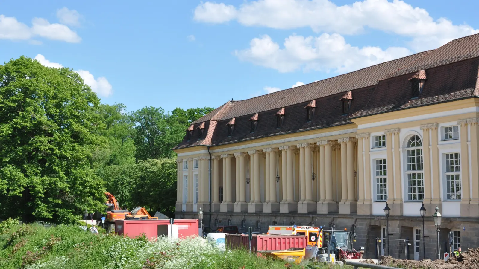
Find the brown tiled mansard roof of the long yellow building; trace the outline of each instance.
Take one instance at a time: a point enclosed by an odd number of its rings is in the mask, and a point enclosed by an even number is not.
[[[351,73],[281,90],[242,101],[228,101],[194,122],[205,122],[211,145],[222,145],[259,137],[288,134],[352,123],[350,119],[397,111],[463,98],[479,97],[479,34],[453,40],[437,49],[366,67]],[[423,70],[424,72],[422,72]],[[411,77],[427,80],[419,98],[411,99]],[[342,115],[342,97],[352,98],[350,113]],[[317,105],[307,122],[304,107]],[[284,108],[284,111],[283,111]],[[276,126],[278,110],[285,113],[281,128]],[[250,119],[261,123],[250,133]],[[234,119],[233,119],[234,118]],[[235,121],[228,136],[225,127]],[[210,123],[211,122],[211,123]],[[214,122],[214,124],[213,124]],[[212,128],[208,128],[209,125]],[[219,124],[219,125],[217,125]],[[216,126],[220,126],[215,128]],[[202,145],[206,144],[205,138]],[[183,142],[176,148],[199,144]]]

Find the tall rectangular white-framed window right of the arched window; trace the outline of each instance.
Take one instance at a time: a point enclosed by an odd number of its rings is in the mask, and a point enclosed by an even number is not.
[[[461,161],[459,153],[445,154],[446,199],[461,200]]]

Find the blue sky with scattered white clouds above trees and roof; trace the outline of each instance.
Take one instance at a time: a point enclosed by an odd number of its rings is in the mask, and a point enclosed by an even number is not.
[[[218,107],[478,33],[479,1],[2,1],[0,62],[77,70],[102,98]]]

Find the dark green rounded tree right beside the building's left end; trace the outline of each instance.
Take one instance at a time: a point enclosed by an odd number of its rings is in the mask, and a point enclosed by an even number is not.
[[[176,160],[148,159],[138,162],[139,178],[132,199],[149,212],[174,212],[176,202]]]

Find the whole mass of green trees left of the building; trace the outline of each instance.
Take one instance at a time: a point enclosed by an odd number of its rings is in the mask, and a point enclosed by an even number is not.
[[[72,223],[123,208],[172,216],[176,154],[188,125],[213,108],[101,104],[78,73],[28,57],[0,66],[0,219]]]

